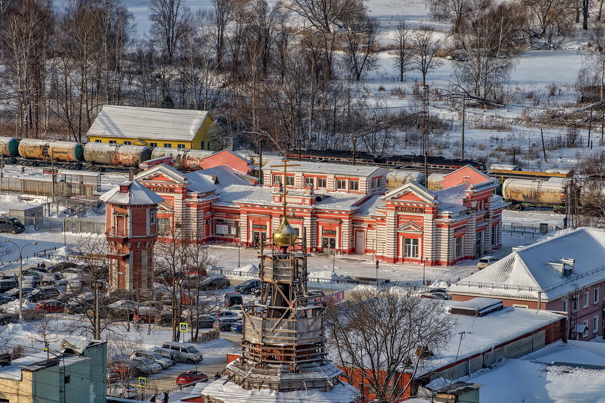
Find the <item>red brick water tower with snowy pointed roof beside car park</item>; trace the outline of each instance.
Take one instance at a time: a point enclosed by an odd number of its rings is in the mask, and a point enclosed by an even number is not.
[[[99,200],[106,205],[110,289],[151,289],[157,205],[164,199],[137,181],[126,181]]]

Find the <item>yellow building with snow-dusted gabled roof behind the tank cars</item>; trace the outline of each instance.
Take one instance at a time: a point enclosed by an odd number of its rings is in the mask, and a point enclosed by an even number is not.
[[[208,111],[105,105],[87,137],[96,143],[215,150],[212,129]]]

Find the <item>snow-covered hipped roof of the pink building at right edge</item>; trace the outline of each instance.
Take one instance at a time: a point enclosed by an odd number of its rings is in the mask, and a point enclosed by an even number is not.
[[[569,277],[549,262],[575,259]],[[605,231],[578,228],[517,250],[448,288],[453,294],[555,300],[605,278]]]

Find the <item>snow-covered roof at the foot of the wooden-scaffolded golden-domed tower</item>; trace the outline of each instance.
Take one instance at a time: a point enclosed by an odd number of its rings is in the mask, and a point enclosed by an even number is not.
[[[325,402],[350,403],[359,395],[359,390],[349,384],[338,384],[327,392],[320,389],[295,390],[293,392],[278,392],[271,389],[244,389],[235,382],[221,378],[208,384],[198,384],[201,395],[212,396],[220,401],[232,403],[263,402],[263,403],[296,403],[296,402]]]

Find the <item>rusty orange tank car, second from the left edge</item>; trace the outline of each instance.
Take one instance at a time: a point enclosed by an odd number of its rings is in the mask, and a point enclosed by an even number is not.
[[[71,141],[23,138],[19,141],[19,155],[19,163],[25,166],[54,160],[67,169],[80,169],[84,161],[82,144]]]

